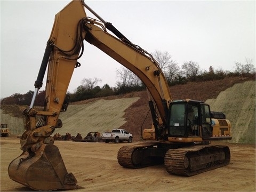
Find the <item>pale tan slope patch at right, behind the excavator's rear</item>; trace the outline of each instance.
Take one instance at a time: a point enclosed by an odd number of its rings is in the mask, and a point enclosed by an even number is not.
[[[226,114],[232,125],[231,142],[255,143],[255,81],[235,84],[206,103]]]

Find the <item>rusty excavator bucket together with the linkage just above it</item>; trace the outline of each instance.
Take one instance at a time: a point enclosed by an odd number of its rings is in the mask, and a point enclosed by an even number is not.
[[[50,125],[25,131],[20,139],[22,154],[8,167],[9,177],[35,190],[77,189],[77,180],[68,173]]]

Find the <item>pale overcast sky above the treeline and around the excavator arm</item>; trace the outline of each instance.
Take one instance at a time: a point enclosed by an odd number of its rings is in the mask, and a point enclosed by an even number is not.
[[[1,98],[34,91],[54,15],[68,3],[1,0]],[[255,1],[85,3],[133,44],[149,53],[167,51],[180,67],[191,60],[205,70],[234,70],[234,62],[245,63],[246,58],[255,65]],[[116,69],[122,66],[98,48],[85,42],[79,62],[70,92],[90,77],[102,79],[99,86],[116,86]]]

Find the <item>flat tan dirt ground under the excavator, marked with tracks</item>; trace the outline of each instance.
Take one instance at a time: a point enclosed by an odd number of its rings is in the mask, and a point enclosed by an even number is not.
[[[80,189],[74,191],[255,191],[255,146],[226,143],[231,151],[228,166],[193,177],[167,173],[164,165],[125,169],[117,151],[133,143],[55,141],[68,172]],[[215,144],[215,143],[212,143]],[[223,143],[222,143],[223,144]],[[1,191],[33,191],[9,178],[12,159],[21,154],[19,139],[1,138]]]

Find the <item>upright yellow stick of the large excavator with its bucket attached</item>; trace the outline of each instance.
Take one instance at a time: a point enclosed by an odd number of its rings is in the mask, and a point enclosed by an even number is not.
[[[71,14],[70,14],[71,13]],[[70,16],[71,15],[71,16]],[[55,15],[52,32],[47,41],[36,82],[35,92],[26,117],[26,131],[20,139],[22,154],[8,168],[12,180],[35,190],[77,189],[76,178],[68,173],[58,147],[54,146],[51,134],[61,127],[60,111],[67,110],[66,92],[79,52],[83,46],[81,18],[86,18],[82,1],[73,1]],[[48,67],[44,111],[37,111],[34,101],[42,87]],[[36,122],[36,116],[41,121]]]

